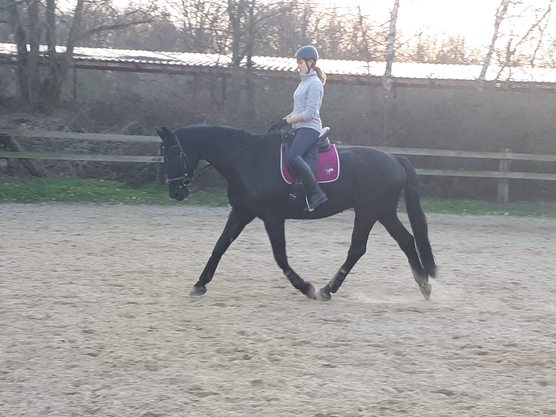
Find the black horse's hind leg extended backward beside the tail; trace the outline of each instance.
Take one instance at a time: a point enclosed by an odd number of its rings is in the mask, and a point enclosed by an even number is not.
[[[430,298],[430,293],[433,287],[429,284],[429,276],[426,274],[421,261],[419,260],[419,255],[415,248],[415,239],[410,232],[405,229],[405,226],[398,219],[398,214],[394,211],[379,220],[384,226],[386,231],[394,238],[400,249],[404,252],[405,256],[408,257],[409,266],[411,272],[413,273],[413,278],[415,282],[419,285],[419,290],[425,300]]]

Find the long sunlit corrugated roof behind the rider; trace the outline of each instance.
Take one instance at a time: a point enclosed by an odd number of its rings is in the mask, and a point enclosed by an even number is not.
[[[65,47],[57,46],[57,52]],[[41,46],[46,53],[46,46]],[[17,54],[16,44],[0,43],[0,57],[13,59]],[[230,68],[232,58],[226,54],[197,52],[138,51],[135,49],[76,47],[73,57],[77,62],[135,63],[176,67]],[[241,63],[246,65],[246,60]],[[252,57],[253,68],[265,71],[296,71],[296,62],[289,57]],[[319,67],[327,75],[381,77],[385,62],[352,61],[346,59],[319,59]],[[177,68],[176,68],[177,69]],[[500,67],[490,66],[486,81],[494,81]],[[392,76],[395,78],[422,80],[476,80],[481,71],[479,65],[430,64],[416,62],[394,62]],[[498,80],[514,82],[556,83],[556,68],[503,68]]]

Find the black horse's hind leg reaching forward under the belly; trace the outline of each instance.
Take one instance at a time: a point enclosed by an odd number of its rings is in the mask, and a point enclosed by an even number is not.
[[[376,219],[370,219],[368,216],[358,215],[355,212],[355,222],[353,232],[351,233],[351,245],[347,251],[347,258],[330,282],[320,289],[318,295],[320,300],[330,300],[330,293],[335,293],[340,288],[347,274],[359,261],[360,257],[365,254],[369,233],[373,229],[375,222]]]

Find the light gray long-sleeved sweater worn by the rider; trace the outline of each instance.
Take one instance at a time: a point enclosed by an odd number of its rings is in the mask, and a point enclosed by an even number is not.
[[[294,112],[292,115],[303,115],[303,121],[294,123],[294,129],[300,127],[310,127],[320,131],[322,122],[320,121],[320,105],[324,95],[324,87],[316,72],[300,74],[301,82],[294,92]]]

